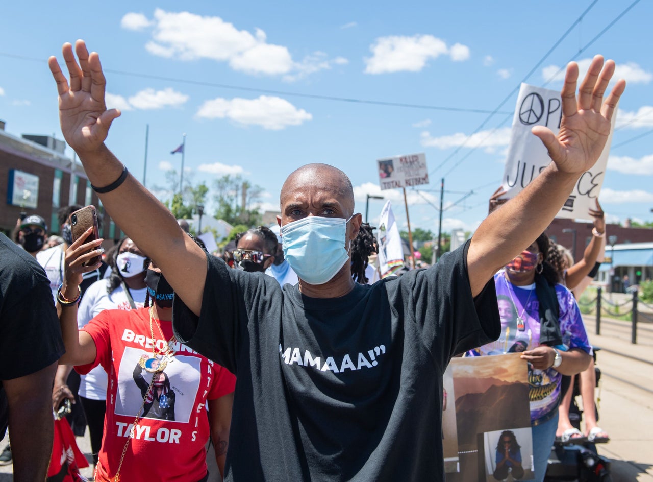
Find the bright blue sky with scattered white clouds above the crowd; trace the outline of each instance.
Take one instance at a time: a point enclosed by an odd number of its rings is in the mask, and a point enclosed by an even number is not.
[[[149,125],[147,185],[162,199],[165,171],[180,170],[182,159],[170,151],[185,133],[184,177],[193,183],[240,174],[276,210],[287,174],[324,162],[349,174],[358,212],[366,194],[383,195],[405,226],[402,192],[380,190],[375,161],[424,152],[430,185],[407,191],[411,226],[437,233],[445,177],[443,231],[473,230],[500,185],[517,93],[500,114],[486,112],[592,3],[113,1],[66,10],[12,2],[3,5],[0,119],[16,136],[61,138],[46,59],[61,61],[63,42],[84,39],[106,70],[109,106],[123,109],[107,144],[142,179]],[[595,54],[616,61],[628,86],[599,199],[609,221],[650,221],[653,3],[639,1],[579,53],[628,5],[594,3],[526,82],[560,89],[551,76],[570,59],[581,72]],[[382,205],[370,200],[370,221]]]

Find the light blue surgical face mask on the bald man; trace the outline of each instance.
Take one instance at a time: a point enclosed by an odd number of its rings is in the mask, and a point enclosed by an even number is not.
[[[323,285],[336,276],[349,259],[351,242],[345,249],[349,219],[308,216],[281,227],[283,257],[299,278]]]

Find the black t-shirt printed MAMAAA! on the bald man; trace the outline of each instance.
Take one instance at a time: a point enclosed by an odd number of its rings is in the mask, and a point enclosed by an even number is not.
[[[442,374],[501,328],[467,246],[329,299],[208,257],[200,317],[176,298],[173,328],[236,374],[226,480],[443,479]]]

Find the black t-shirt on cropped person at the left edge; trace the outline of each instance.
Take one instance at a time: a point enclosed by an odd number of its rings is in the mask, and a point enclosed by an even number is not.
[[[38,372],[63,353],[50,280],[36,259],[0,233],[0,380]]]

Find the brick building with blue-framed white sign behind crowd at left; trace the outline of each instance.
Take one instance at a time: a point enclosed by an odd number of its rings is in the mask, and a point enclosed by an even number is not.
[[[59,208],[93,204],[101,219],[100,236],[118,239],[121,232],[104,213],[82,165],[74,163],[64,150],[63,140],[41,135],[15,137],[0,121],[0,231],[11,236],[24,212],[42,216],[48,223],[48,234],[58,234]]]

